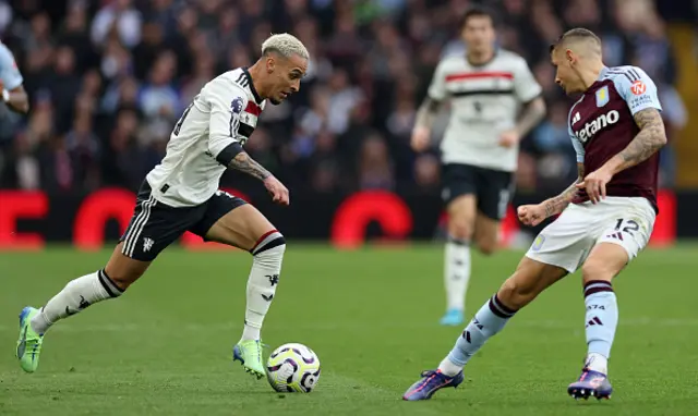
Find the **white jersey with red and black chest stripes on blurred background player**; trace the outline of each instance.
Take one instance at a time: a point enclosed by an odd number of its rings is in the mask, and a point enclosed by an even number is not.
[[[514,52],[498,50],[483,65],[471,65],[465,54],[444,58],[429,87],[430,98],[450,101],[443,162],[515,171],[518,146],[500,146],[500,134],[516,125],[521,105],[541,91],[524,58]]]

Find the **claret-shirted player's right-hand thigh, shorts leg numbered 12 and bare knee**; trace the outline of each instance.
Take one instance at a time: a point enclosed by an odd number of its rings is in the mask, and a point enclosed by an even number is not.
[[[617,201],[627,204],[607,208],[605,227],[601,228],[597,244],[582,266],[585,283],[611,281],[649,243],[655,218],[649,203],[636,198]]]

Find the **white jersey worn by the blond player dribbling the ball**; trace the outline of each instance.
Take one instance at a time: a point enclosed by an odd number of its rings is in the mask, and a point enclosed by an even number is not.
[[[165,158],[146,176],[155,199],[170,207],[208,200],[227,168],[217,156],[236,142],[244,145],[264,106],[246,69],[204,85],[174,125]]]

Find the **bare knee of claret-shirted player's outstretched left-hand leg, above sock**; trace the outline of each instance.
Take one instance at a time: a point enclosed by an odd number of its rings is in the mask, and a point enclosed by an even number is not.
[[[514,274],[500,287],[497,297],[505,306],[520,309],[567,273],[562,267],[524,257]]]

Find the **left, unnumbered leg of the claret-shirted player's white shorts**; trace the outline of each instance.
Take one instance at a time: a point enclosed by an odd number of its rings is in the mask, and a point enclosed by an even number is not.
[[[535,237],[526,257],[574,273],[595,242],[590,207],[570,205]]]

